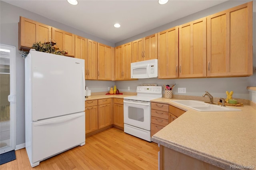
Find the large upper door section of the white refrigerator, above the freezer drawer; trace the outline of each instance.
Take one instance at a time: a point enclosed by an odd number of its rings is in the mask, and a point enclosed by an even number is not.
[[[30,50],[25,64],[31,121],[84,111],[84,59]]]

